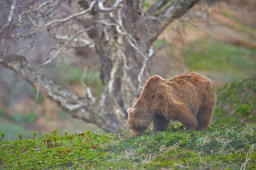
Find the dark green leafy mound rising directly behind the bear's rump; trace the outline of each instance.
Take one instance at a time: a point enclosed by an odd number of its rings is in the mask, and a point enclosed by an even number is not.
[[[250,123],[256,121],[256,74],[217,88],[212,122]],[[250,118],[250,119],[249,119]]]

